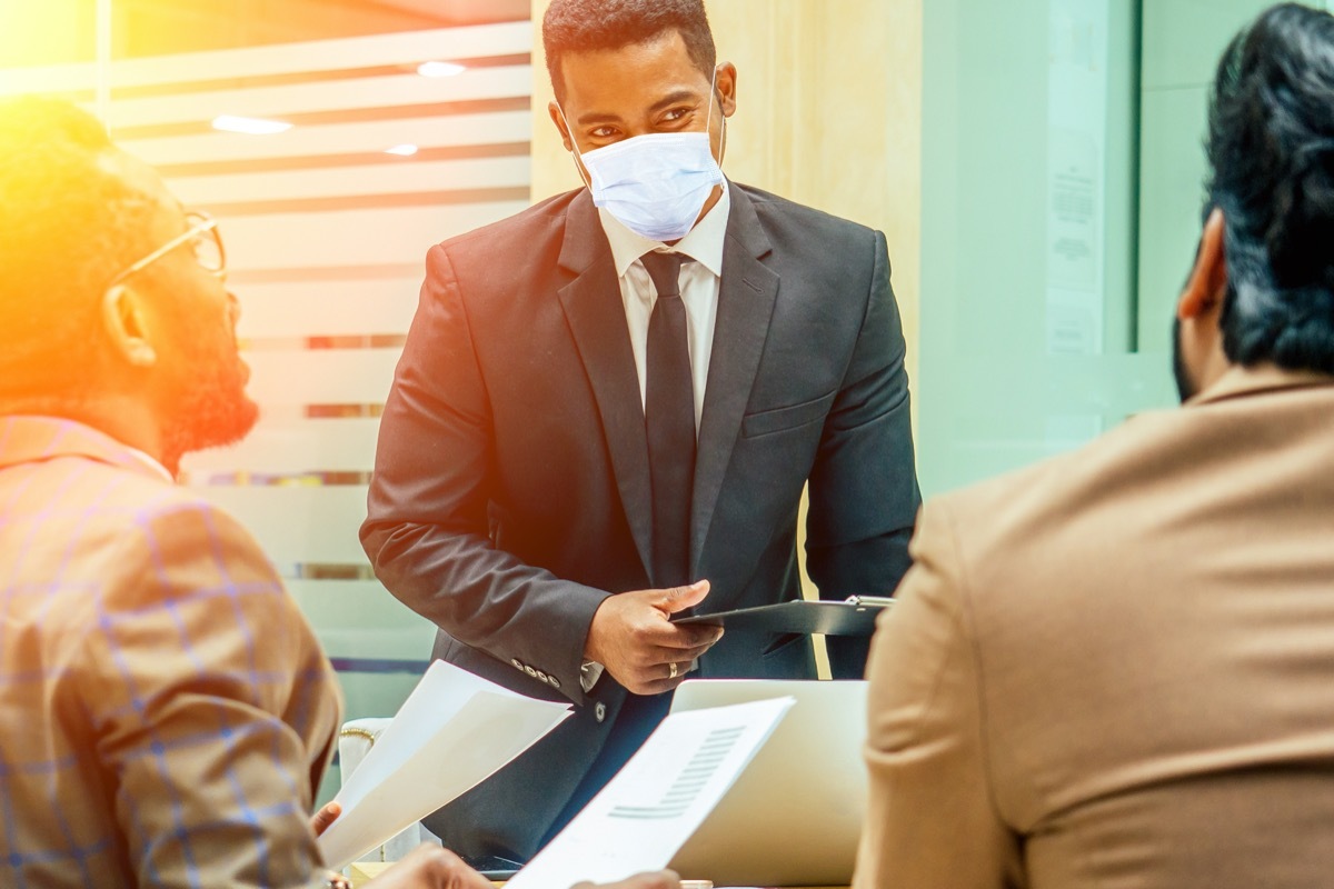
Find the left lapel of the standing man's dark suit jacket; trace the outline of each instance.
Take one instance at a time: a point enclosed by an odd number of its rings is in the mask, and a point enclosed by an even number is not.
[[[559,263],[575,276],[560,288],[560,305],[598,401],[630,533],[644,574],[651,576],[652,484],[639,376],[611,247],[587,191],[567,211]]]

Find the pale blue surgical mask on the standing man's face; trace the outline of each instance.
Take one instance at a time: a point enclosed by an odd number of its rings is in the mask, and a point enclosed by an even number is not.
[[[562,109],[562,119],[564,115]],[[712,115],[714,84],[710,83],[708,117],[702,133],[647,133],[582,155],[570,131],[575,157],[588,171],[584,181],[592,192],[592,203],[650,240],[684,237],[695,227],[714,187],[723,181],[723,171],[708,141]],[[566,129],[570,129],[568,120]]]

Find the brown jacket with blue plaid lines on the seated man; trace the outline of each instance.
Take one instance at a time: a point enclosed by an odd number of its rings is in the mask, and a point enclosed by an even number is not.
[[[77,423],[0,417],[0,885],[319,885],[340,697],[233,518]]]

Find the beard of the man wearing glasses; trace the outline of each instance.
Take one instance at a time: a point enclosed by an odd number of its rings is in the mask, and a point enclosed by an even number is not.
[[[163,462],[176,474],[184,454],[244,439],[259,420],[259,405],[245,395],[249,368],[229,325],[187,321],[173,341],[181,348],[169,359],[177,384],[165,411]]]

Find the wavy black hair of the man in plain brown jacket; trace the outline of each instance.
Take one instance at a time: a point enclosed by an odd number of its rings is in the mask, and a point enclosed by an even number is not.
[[[1334,16],[1285,3],[1233,39],[1207,152],[1205,212],[1226,220],[1225,355],[1334,373]]]

